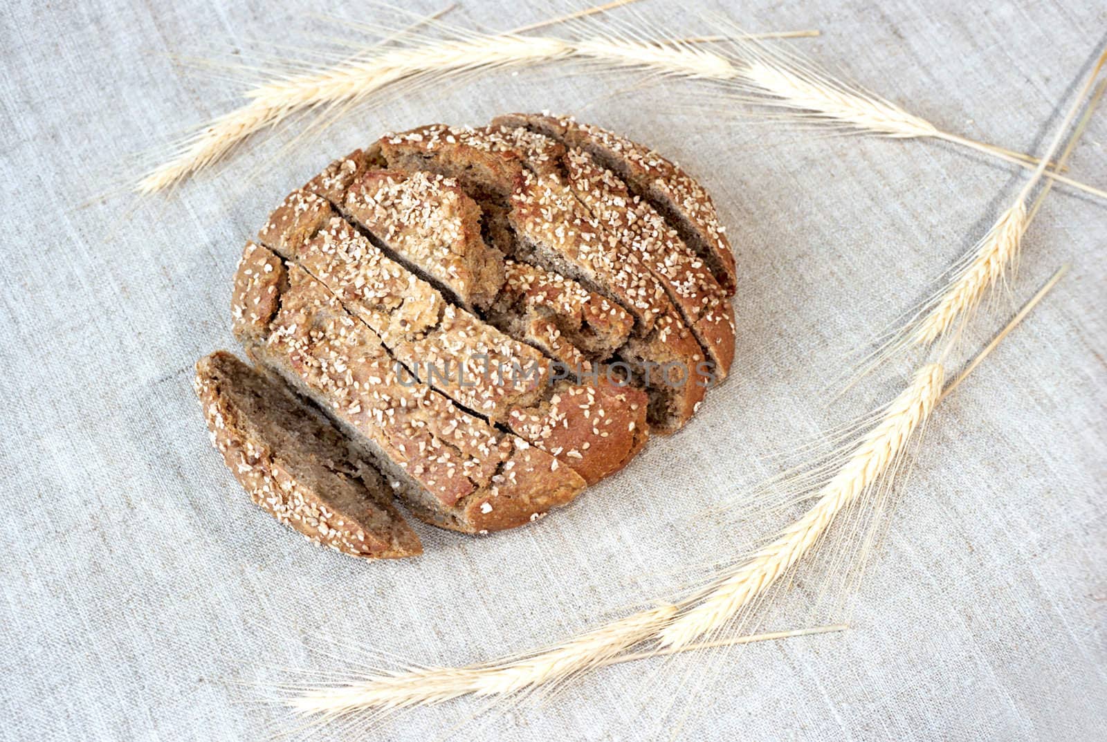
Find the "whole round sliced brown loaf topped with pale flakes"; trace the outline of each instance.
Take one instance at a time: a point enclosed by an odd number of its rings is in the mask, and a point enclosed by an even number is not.
[[[514,527],[683,427],[730,372],[735,285],[710,197],[652,150],[546,115],[435,124],[278,206],[231,300],[262,372],[216,354],[197,391],[256,502],[406,556],[393,495],[441,527]]]

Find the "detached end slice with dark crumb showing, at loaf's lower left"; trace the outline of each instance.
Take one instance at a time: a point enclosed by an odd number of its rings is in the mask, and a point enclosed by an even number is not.
[[[380,473],[282,384],[218,351],[196,364],[194,386],[227,467],[278,521],[352,556],[423,553]]]

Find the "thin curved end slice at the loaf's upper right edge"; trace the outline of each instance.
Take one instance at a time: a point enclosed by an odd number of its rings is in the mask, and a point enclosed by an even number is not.
[[[493,125],[527,128],[596,157],[622,178],[631,192],[656,209],[706,263],[726,295],[734,295],[737,272],[726,230],[707,191],[679,165],[649,147],[599,126],[578,124],[570,116],[508,114],[494,118]]]

